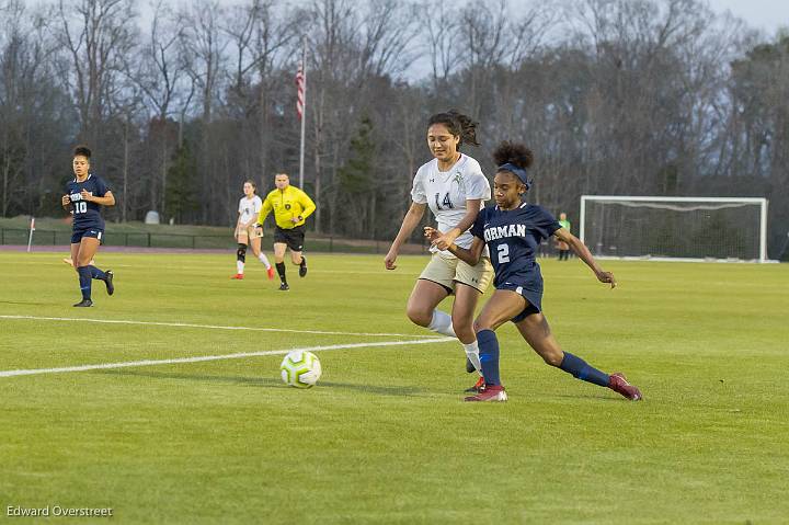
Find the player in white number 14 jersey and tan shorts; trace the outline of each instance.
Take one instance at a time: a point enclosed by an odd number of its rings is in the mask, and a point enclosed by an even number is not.
[[[430,118],[427,147],[434,158],[422,166],[414,176],[411,207],[384,261],[387,270],[397,267],[400,247],[419,226],[426,207],[433,212],[437,229],[447,246],[453,242],[467,248],[471,246],[473,238],[468,229],[484,206],[484,201],[491,197],[490,183],[479,162],[459,150],[467,144],[479,146],[476,126],[471,118],[455,111]],[[448,251],[436,248],[431,248],[431,261],[411,292],[405,312],[415,324],[460,340],[466,351],[467,372],[477,370],[480,374],[477,384],[469,390],[478,390],[483,380],[473,313],[477,301],[491,283],[493,269],[488,256],[470,266]],[[453,294],[455,301],[450,317],[436,307]]]

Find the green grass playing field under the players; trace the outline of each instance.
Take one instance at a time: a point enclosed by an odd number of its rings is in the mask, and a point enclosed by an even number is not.
[[[459,345],[423,344],[404,317],[424,258],[385,272],[315,254],[288,293],[255,263],[230,281],[232,252],[98,262],[116,294],[94,282],[94,308],[75,309],[58,254],[0,252],[0,521],[54,505],[151,524],[789,520],[789,265],[609,262],[610,290],[545,261],[562,346],[645,401],[546,366],[506,326],[510,402],[476,404]],[[3,375],[382,342],[407,344],[317,352],[310,390],[281,383],[279,354]]]

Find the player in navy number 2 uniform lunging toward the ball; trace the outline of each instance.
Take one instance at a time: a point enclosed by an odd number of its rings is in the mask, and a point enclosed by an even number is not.
[[[483,248],[490,249],[495,272],[495,292],[474,321],[479,341],[484,386],[466,401],[506,401],[507,395],[499,375],[499,341],[494,330],[506,321],[517,327],[524,340],[551,366],[561,368],[584,381],[608,387],[637,401],[641,391],[620,373],[605,374],[582,358],[563,352],[542,315],[542,275],[535,260],[540,241],[556,236],[567,242],[602,283],[616,286],[614,274],[605,272],[588,249],[548,213],[528,204],[524,195],[531,185],[528,168],[534,156],[526,146],[502,142],[493,152],[496,170],[493,196],[495,207],[482,209],[471,228],[474,240],[469,249],[446,244],[441,233],[425,228],[425,237],[442,250],[449,250],[468,264],[476,264]]]

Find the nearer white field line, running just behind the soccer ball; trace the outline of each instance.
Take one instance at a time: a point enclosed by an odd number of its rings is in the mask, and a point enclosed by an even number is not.
[[[144,359],[144,361],[129,361],[126,363],[103,363],[96,365],[81,365],[81,366],[65,366],[61,368],[33,368],[30,370],[0,370],[0,377],[14,377],[14,376],[33,376],[38,374],[65,374],[69,372],[87,372],[87,370],[105,370],[112,368],[129,368],[136,366],[156,366],[156,365],[173,365],[178,363],[203,363],[206,361],[221,361],[221,359],[241,359],[244,357],[260,357],[264,355],[277,355],[287,354],[295,350],[302,352],[327,352],[331,350],[348,350],[348,349],[369,349],[374,346],[402,346],[408,344],[427,344],[427,343],[448,343],[450,341],[457,341],[454,338],[436,338],[432,340],[419,340],[419,341],[382,341],[379,343],[352,343],[352,344],[331,344],[327,346],[304,346],[300,349],[287,349],[287,350],[266,350],[261,352],[242,352],[238,354],[225,354],[225,355],[204,355],[198,357],[179,357],[174,359]]]

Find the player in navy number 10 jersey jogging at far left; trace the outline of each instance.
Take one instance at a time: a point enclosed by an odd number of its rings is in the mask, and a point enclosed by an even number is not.
[[[82,300],[76,307],[93,306],[91,300],[91,281],[98,278],[106,285],[108,295],[113,295],[113,273],[102,272],[91,264],[104,236],[104,219],[99,213],[101,206],[114,206],[115,197],[106,183],[90,172],[91,150],[78,146],[73,152],[75,178],[66,184],[66,195],[61,203],[73,213],[71,233],[71,260],[79,275]]]

